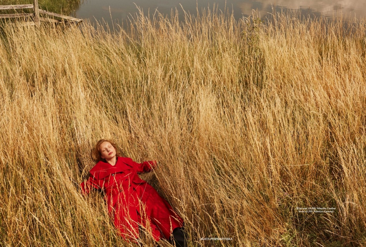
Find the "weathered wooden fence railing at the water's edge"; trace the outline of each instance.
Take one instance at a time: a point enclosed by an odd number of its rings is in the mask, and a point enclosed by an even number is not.
[[[5,18],[25,18],[29,17],[27,25],[40,25],[40,22],[51,23],[74,23],[79,25],[83,20],[73,18],[67,15],[60,15],[53,12],[41,10],[38,6],[38,0],[33,0],[33,4],[18,4],[18,5],[0,5],[0,10],[16,10],[16,9],[33,9],[33,13],[19,13],[19,14],[0,14],[0,19]],[[55,17],[57,19],[55,19]]]

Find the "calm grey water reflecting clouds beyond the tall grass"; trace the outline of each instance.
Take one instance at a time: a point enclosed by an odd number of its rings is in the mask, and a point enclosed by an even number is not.
[[[104,19],[108,24],[113,22],[125,22],[128,16],[134,16],[140,7],[144,14],[154,14],[155,10],[161,14],[168,15],[171,9],[177,9],[179,15],[183,17],[183,10],[191,14],[201,11],[202,8],[217,6],[224,10],[225,4],[229,11],[234,12],[236,19],[251,15],[252,10],[257,10],[261,19],[276,10],[301,10],[302,14],[310,16],[325,16],[332,18],[337,12],[350,18],[366,18],[366,0],[83,0],[75,16],[81,19],[89,19],[91,23],[101,22]]]

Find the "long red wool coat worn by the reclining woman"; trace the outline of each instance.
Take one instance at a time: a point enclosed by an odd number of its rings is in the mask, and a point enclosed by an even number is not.
[[[82,194],[92,188],[104,191],[109,215],[125,240],[139,237],[138,224],[150,228],[153,238],[168,239],[173,229],[183,227],[183,220],[157,191],[137,173],[149,172],[155,161],[137,163],[131,158],[117,157],[116,164],[99,161],[81,183]]]

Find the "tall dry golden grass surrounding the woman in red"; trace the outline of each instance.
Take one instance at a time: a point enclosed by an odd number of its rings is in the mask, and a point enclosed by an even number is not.
[[[365,246],[366,24],[297,17],[5,25],[1,245],[133,246],[100,194],[79,193],[91,148],[112,138],[160,161],[142,176],[189,246]]]

